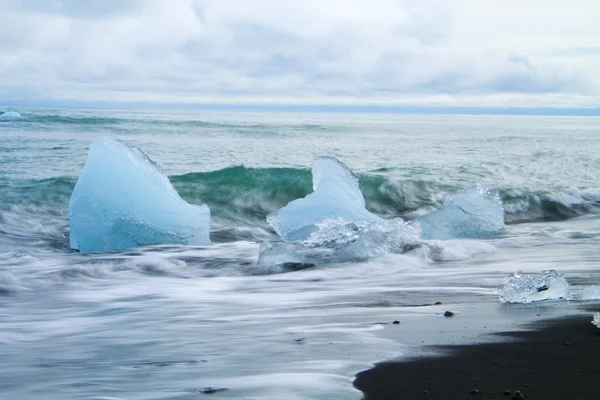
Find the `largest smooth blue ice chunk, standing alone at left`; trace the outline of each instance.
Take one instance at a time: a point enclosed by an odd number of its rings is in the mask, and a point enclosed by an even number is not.
[[[110,251],[150,244],[210,243],[210,210],[186,203],[140,149],[92,143],[69,200],[71,248]]]

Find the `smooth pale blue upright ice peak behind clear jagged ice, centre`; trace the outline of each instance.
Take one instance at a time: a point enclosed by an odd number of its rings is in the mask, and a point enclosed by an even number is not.
[[[267,216],[269,224],[286,242],[307,239],[327,219],[381,221],[365,208],[358,178],[334,157],[318,157],[314,161],[313,190]]]

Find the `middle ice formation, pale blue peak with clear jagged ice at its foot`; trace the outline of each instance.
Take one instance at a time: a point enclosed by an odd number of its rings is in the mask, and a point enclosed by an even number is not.
[[[336,158],[315,160],[313,188],[267,217],[285,243],[263,244],[258,260],[263,273],[290,263],[323,265],[402,253],[417,240],[414,227],[402,219],[367,211],[358,178]]]

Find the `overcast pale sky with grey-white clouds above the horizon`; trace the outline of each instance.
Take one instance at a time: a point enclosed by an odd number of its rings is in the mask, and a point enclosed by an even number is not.
[[[0,101],[598,107],[598,0],[0,0]]]

